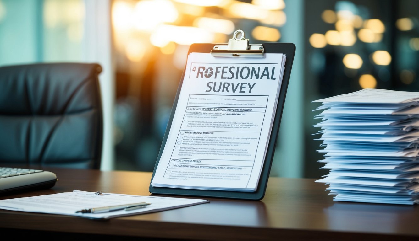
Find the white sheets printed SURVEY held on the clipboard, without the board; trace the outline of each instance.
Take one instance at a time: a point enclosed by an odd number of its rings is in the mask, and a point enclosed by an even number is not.
[[[284,54],[190,53],[153,187],[256,190],[277,108]]]

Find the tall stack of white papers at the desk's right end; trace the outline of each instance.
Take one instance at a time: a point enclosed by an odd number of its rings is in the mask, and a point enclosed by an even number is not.
[[[419,203],[419,92],[364,89],[315,100],[335,201]]]

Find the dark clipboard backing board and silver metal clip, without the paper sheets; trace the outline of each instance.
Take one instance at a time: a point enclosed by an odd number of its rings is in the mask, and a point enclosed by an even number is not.
[[[241,192],[241,191],[230,191],[230,190],[203,190],[203,189],[189,189],[189,188],[174,188],[174,187],[154,187],[151,182],[156,173],[156,169],[159,164],[159,160],[162,156],[163,149],[173,122],[173,116],[177,107],[178,98],[181,92],[183,80],[185,77],[185,70],[182,74],[181,81],[178,86],[176,97],[171,110],[171,115],[168,121],[166,132],[163,137],[160,152],[154,167],[153,175],[150,182],[149,192],[155,195],[180,195],[180,196],[194,196],[194,197],[216,197],[216,198],[227,198],[227,199],[239,199],[239,200],[261,200],[266,191],[266,186],[269,179],[269,172],[272,166],[272,160],[274,157],[277,136],[279,132],[279,125],[282,117],[282,110],[284,108],[285,96],[287,93],[288,83],[290,81],[290,74],[292,68],[292,62],[295,55],[295,45],[292,43],[264,43],[264,44],[249,44],[249,40],[245,38],[245,33],[242,30],[237,30],[233,34],[228,44],[191,44],[188,51],[190,53],[211,53],[215,58],[228,57],[228,58],[263,58],[264,54],[268,53],[279,53],[285,54],[285,69],[282,77],[282,84],[279,90],[279,97],[277,103],[277,109],[272,123],[272,131],[270,133],[269,142],[266,149],[266,156],[263,162],[262,170],[260,172],[258,186],[254,192]]]

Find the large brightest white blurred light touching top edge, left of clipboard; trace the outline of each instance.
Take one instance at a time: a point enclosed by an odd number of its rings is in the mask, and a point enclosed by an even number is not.
[[[161,23],[173,23],[178,11],[169,0],[141,0],[134,8],[133,26],[140,31],[153,31]]]

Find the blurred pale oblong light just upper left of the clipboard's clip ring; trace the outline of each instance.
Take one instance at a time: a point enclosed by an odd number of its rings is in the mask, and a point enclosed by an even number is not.
[[[196,18],[193,25],[198,28],[207,29],[213,33],[231,34],[235,31],[235,26],[232,21],[220,18]]]

